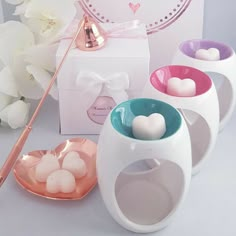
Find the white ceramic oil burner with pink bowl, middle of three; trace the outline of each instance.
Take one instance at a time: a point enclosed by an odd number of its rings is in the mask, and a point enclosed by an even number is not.
[[[178,108],[189,128],[193,174],[211,156],[219,130],[219,105],[215,86],[204,72],[186,66],[166,66],[154,71],[143,97]]]

